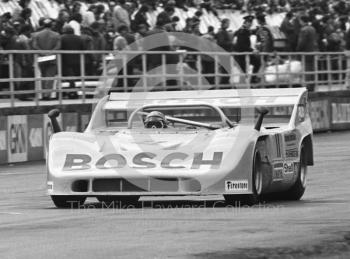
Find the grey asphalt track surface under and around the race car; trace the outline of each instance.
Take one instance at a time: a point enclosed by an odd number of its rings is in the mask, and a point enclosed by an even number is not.
[[[350,258],[350,133],[314,142],[303,199],[252,208],[189,197],[56,209],[43,162],[1,166],[0,258]]]

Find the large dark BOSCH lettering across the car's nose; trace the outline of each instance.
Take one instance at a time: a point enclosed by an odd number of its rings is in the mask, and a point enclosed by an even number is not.
[[[152,159],[156,158],[157,155],[151,152],[141,152],[136,154],[132,161],[127,159],[122,154],[107,154],[97,160],[92,165],[92,157],[86,154],[67,154],[64,162],[63,171],[73,170],[89,170],[92,167],[97,169],[111,169],[111,168],[124,168],[129,166],[130,168],[137,169],[149,169],[159,167]],[[212,159],[204,159],[203,153],[194,153],[192,164],[190,169],[199,169],[201,166],[210,166],[210,169],[220,168],[222,162],[223,152],[214,152]],[[189,154],[175,152],[164,156],[161,159],[160,167],[164,169],[181,169],[186,166],[181,163],[187,158],[191,158]]]

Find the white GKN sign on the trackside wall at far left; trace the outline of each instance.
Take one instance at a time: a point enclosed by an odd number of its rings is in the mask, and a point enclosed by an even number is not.
[[[27,116],[8,117],[8,156],[9,162],[27,160]]]

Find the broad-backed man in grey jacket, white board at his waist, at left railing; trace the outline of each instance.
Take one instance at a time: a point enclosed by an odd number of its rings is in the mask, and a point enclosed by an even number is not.
[[[32,38],[32,46],[34,50],[59,50],[61,48],[61,37],[57,32],[51,30],[52,21],[46,18],[43,21],[43,30],[34,33]],[[57,73],[56,55],[43,54],[47,56],[43,61],[39,61],[39,67],[42,77],[53,77]],[[53,89],[53,80],[43,80],[42,88],[44,90]],[[43,93],[43,100],[50,99],[50,92]]]

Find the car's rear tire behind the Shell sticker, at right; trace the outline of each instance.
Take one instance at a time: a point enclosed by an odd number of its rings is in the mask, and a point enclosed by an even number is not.
[[[283,199],[286,200],[300,200],[306,189],[306,175],[307,175],[307,163],[306,163],[306,152],[304,144],[300,148],[300,158],[298,167],[298,177],[293,186],[287,191],[282,193]]]

